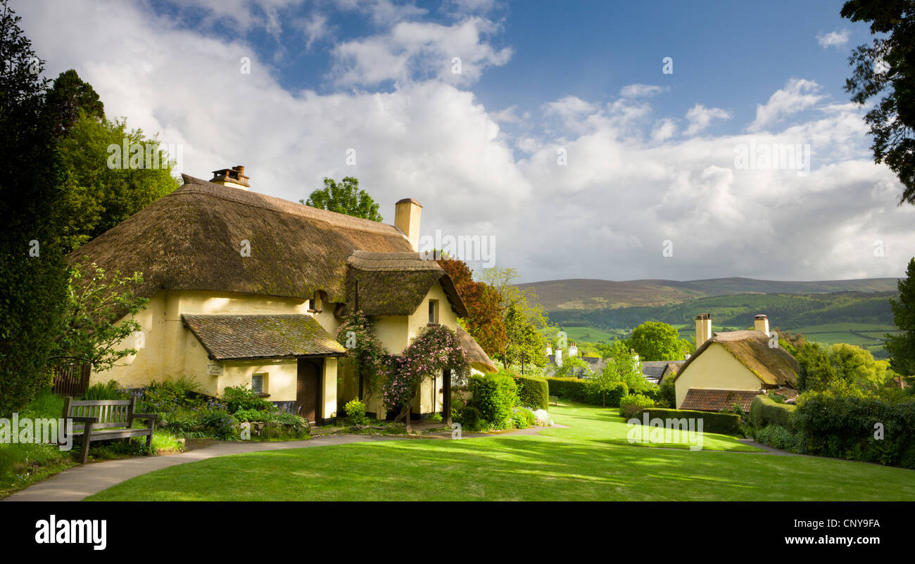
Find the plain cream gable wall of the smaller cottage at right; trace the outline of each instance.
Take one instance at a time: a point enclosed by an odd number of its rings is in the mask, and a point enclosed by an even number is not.
[[[696,356],[675,382],[677,408],[679,409],[690,388],[759,389],[762,383],[748,367],[727,352],[724,346],[712,343]]]

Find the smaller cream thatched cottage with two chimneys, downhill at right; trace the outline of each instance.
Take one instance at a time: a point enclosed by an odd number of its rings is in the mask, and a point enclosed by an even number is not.
[[[677,409],[744,410],[759,394],[797,393],[797,359],[770,336],[769,318],[759,314],[752,331],[712,333],[712,316],[695,319],[696,351],[673,374]]]

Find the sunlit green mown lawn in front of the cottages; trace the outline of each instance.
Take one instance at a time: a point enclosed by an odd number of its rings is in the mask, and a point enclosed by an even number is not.
[[[753,452],[618,444],[614,410],[552,407],[532,436],[238,454],[138,476],[91,500],[910,500],[910,470]],[[706,446],[737,448],[723,436]],[[682,446],[682,445],[681,445]]]

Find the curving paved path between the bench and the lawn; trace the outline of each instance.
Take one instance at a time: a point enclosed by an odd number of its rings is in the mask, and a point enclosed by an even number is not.
[[[556,425],[556,427],[563,427]],[[517,431],[503,431],[499,433],[465,433],[464,439],[479,437],[498,437],[507,434],[532,435],[543,427],[531,427]],[[450,432],[430,433],[425,437],[431,439],[450,439]],[[352,442],[373,441],[422,441],[420,437],[404,436],[369,436],[369,435],[330,435],[318,437],[309,441],[287,442],[220,442],[204,449],[198,449],[179,454],[164,454],[162,456],[135,456],[100,463],[82,464],[64,470],[60,474],[51,476],[47,480],[31,485],[26,489],[10,495],[3,501],[80,501],[89,495],[98,494],[115,484],[175,466],[177,464],[195,463],[208,458],[226,456],[227,454],[241,454],[242,452],[278,451],[282,449],[301,449],[313,446],[326,446],[329,444],[350,444]]]

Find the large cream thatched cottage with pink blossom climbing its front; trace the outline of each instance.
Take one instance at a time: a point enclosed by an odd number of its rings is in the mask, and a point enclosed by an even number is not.
[[[328,422],[359,386],[335,335],[361,309],[382,345],[400,353],[427,324],[458,329],[467,310],[447,273],[417,251],[420,211],[396,204],[394,224],[311,208],[250,190],[244,167],[183,186],[83,245],[107,271],[143,272],[137,349],[91,381],[140,388],[194,378],[218,396],[248,385],[308,420]],[[494,370],[461,333],[471,366]],[[442,377],[425,382],[414,417],[441,411]],[[371,412],[384,416],[379,399]]]

